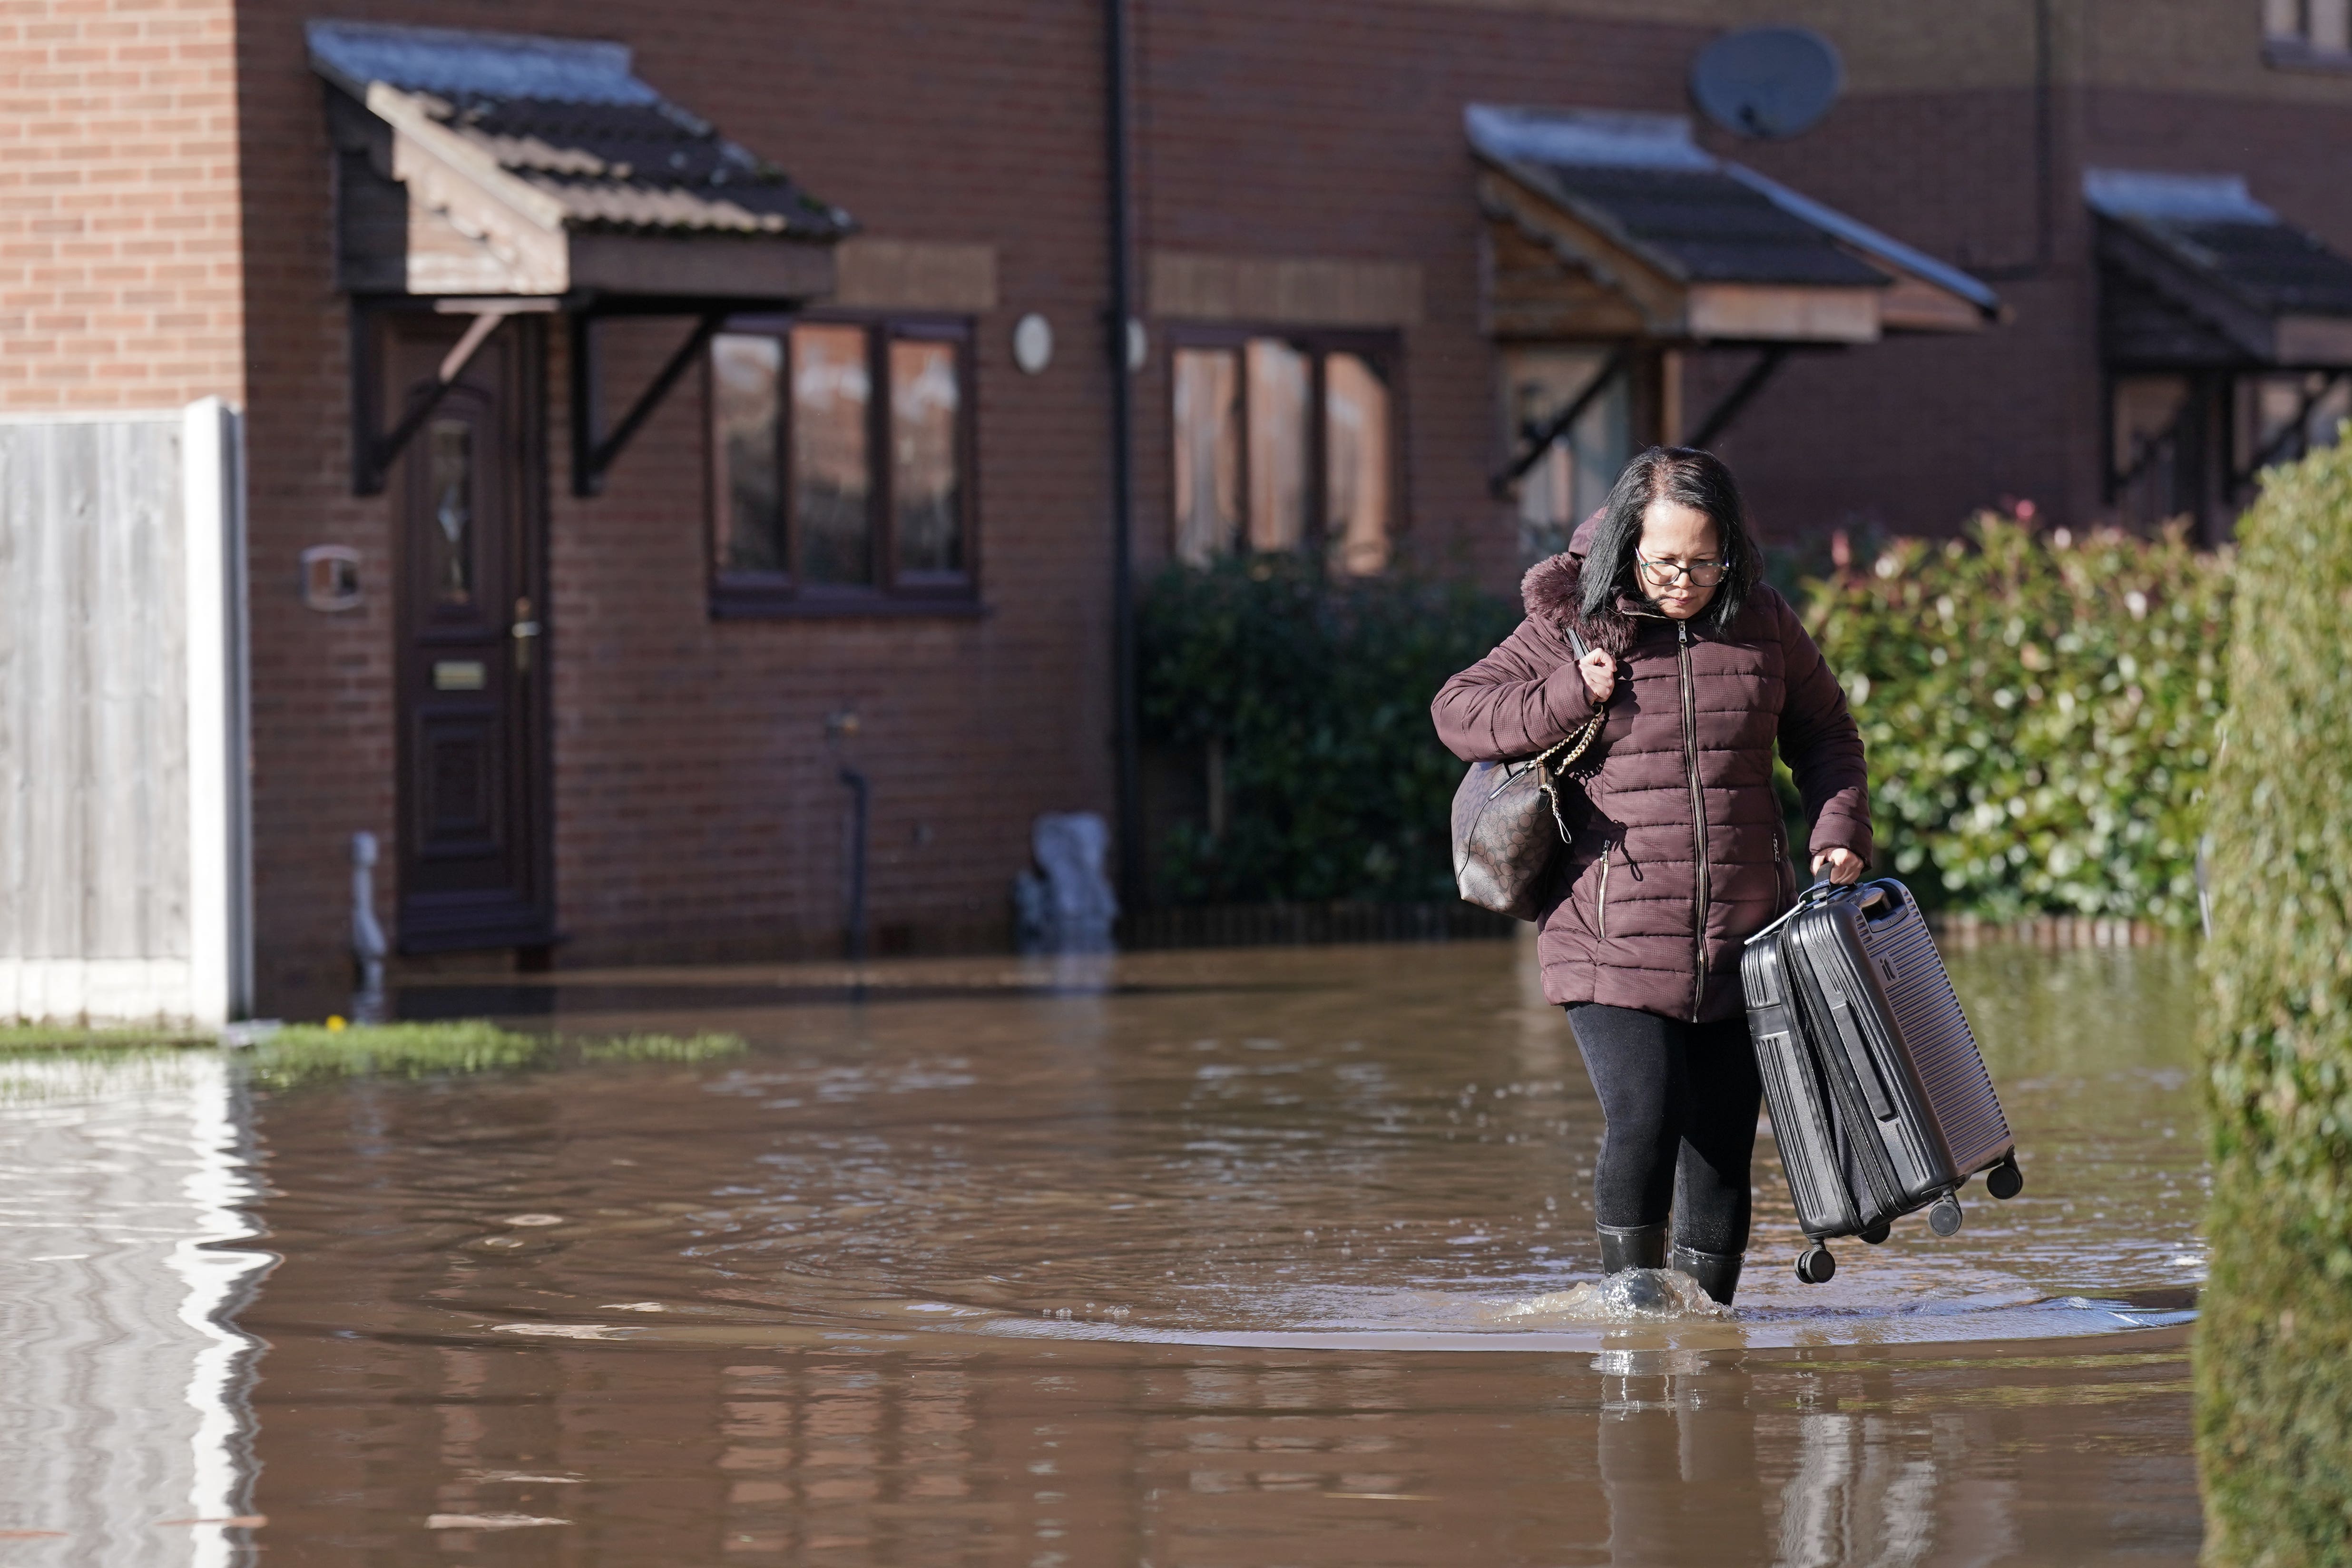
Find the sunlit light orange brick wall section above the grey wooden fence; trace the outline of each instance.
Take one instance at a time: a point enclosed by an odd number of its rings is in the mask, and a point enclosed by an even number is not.
[[[230,0],[0,5],[0,409],[235,397]]]

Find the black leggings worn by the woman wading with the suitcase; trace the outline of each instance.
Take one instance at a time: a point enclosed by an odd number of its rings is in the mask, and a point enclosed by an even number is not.
[[[1677,1023],[1585,1001],[1569,1025],[1606,1117],[1595,1218],[1658,1225],[1672,1204],[1677,1246],[1748,1251],[1748,1159],[1764,1103],[1748,1020]]]

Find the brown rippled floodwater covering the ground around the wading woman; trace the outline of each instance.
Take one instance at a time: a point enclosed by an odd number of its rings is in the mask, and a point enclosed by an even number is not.
[[[2185,947],[1952,954],[2025,1194],[1590,1288],[1526,945],[555,976],[748,1053],[14,1065],[0,1563],[2192,1563]],[[42,1077],[47,1074],[47,1077]]]

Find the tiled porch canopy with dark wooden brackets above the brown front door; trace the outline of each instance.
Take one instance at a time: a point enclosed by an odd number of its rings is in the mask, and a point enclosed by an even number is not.
[[[833,292],[849,214],[637,80],[626,45],[367,21],[313,21],[306,38],[332,85],[336,282],[362,317],[362,494],[510,315],[569,317],[574,491],[595,494],[729,315]],[[473,315],[440,386],[390,430],[365,320],[383,310]],[[607,315],[696,322],[609,435],[593,331]]]

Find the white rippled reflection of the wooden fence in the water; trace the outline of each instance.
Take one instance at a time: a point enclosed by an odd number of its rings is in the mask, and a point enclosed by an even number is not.
[[[0,1060],[7,1561],[247,1561],[247,1114],[212,1051]]]

